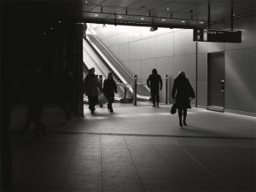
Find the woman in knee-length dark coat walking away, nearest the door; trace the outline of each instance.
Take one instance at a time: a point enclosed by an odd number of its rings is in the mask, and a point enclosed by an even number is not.
[[[183,127],[183,125],[187,125],[187,108],[191,108],[190,102],[195,98],[195,92],[184,72],[179,72],[177,78],[174,79],[172,98],[178,109],[179,125]]]

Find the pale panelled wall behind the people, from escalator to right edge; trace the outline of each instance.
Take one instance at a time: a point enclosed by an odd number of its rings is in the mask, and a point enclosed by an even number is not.
[[[207,106],[207,53],[224,52],[225,108],[256,112],[256,19],[255,16],[234,20],[234,28],[242,31],[241,44],[198,43],[197,102]],[[230,22],[211,26],[230,28]],[[138,80],[145,83],[153,68],[163,81],[169,75],[169,99],[173,79],[183,70],[195,88],[196,43],[193,30],[161,29],[149,32],[148,27],[96,26],[96,36]],[[164,99],[164,90],[160,98]]]

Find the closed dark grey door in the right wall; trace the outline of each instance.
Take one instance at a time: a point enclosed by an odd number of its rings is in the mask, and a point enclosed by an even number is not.
[[[208,54],[207,109],[224,111],[224,53]]]

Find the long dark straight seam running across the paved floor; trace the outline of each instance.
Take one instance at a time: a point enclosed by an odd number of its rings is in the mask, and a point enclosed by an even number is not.
[[[20,131],[10,131],[20,132]],[[29,131],[28,131],[29,132]],[[238,140],[255,140],[256,137],[214,137],[214,136],[181,136],[181,135],[155,135],[155,134],[139,134],[139,133],[100,133],[100,132],[75,132],[75,131],[46,131],[47,134],[63,134],[63,135],[104,135],[104,136],[126,136],[126,137],[174,137],[174,138],[207,138],[207,139],[238,139]]]

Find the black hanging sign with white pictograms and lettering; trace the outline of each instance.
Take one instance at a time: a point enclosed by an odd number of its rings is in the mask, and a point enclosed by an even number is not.
[[[194,29],[194,41],[241,43],[241,31]]]

